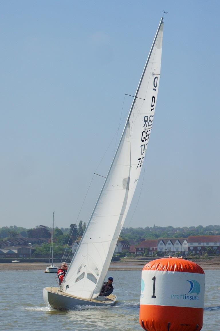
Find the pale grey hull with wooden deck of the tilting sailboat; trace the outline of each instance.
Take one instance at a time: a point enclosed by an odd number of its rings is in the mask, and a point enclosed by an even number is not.
[[[113,306],[116,296],[110,294],[108,297],[100,299],[83,299],[72,295],[58,292],[58,287],[45,287],[43,290],[44,302],[47,306],[60,310],[70,310],[76,306]]]

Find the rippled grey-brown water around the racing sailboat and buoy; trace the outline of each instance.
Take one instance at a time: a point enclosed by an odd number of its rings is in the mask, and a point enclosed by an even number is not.
[[[55,275],[44,271],[1,272],[0,312],[4,330],[136,331],[139,325],[141,271],[111,271],[114,307],[84,307],[56,311],[46,307],[43,287],[57,286]],[[220,270],[205,271],[203,331],[220,330]],[[1,328],[0,328],[1,329]]]

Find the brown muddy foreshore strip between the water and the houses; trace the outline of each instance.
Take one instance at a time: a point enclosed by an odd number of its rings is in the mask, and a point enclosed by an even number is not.
[[[216,257],[212,260],[192,260],[193,262],[199,264],[204,270],[210,269],[220,269],[220,258]],[[111,262],[109,270],[142,270],[147,261],[134,261],[134,260],[122,260],[118,262]],[[42,262],[34,262],[34,263],[0,263],[2,270],[23,270],[23,271],[31,271],[31,270],[42,270],[44,272],[47,263]],[[58,265],[58,264],[57,264]]]

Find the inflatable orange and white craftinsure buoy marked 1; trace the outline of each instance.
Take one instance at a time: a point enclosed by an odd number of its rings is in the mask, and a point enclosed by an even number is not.
[[[182,258],[157,259],[141,274],[140,324],[146,331],[200,331],[204,270]]]

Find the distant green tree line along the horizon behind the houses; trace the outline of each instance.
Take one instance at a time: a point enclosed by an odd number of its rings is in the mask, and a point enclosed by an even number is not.
[[[59,245],[72,243],[81,237],[85,231],[86,224],[82,220],[79,224],[70,224],[69,228],[54,229],[53,237],[54,242]],[[26,229],[23,227],[4,226],[0,228],[0,239],[16,238],[21,235],[24,238],[50,238],[52,228],[44,225],[38,225],[35,228]],[[220,235],[220,225],[207,225],[203,227],[190,226],[190,227],[173,227],[173,226],[152,226],[152,227],[138,227],[138,228],[123,228],[120,237],[123,241],[130,243],[131,245],[139,244],[146,239],[158,239],[158,238],[188,238],[189,236],[201,236],[201,235]]]

